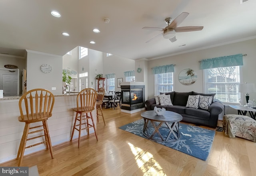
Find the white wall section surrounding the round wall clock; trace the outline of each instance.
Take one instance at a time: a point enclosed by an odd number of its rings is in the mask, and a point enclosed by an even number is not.
[[[48,89],[54,95],[62,94],[62,56],[37,51],[27,51],[27,91],[36,88]],[[41,65],[50,64],[52,71],[43,73]],[[56,90],[52,90],[56,87]]]

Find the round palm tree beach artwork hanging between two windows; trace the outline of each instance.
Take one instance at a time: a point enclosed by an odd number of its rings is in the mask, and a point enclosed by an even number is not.
[[[184,69],[179,74],[179,81],[183,85],[192,85],[196,82],[197,74],[193,69]]]

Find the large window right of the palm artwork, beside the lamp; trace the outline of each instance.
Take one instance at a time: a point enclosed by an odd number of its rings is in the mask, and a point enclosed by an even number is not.
[[[204,69],[204,93],[216,93],[222,102],[239,103],[239,66]]]

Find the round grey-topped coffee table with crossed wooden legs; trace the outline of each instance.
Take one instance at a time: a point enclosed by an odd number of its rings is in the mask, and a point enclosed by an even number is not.
[[[146,111],[144,113],[141,113],[141,117],[143,117],[144,119],[143,134],[147,138],[160,142],[173,142],[180,139],[179,122],[182,120],[182,115],[174,113],[172,111],[165,111],[164,115],[157,115],[154,111]],[[150,125],[149,122],[151,122],[152,125]],[[165,138],[159,131],[160,127],[162,127],[163,124],[166,124],[167,127],[164,128],[168,129],[169,132]],[[152,132],[152,130],[149,130],[152,127],[154,127],[154,132]],[[157,138],[155,136],[156,133],[161,138],[161,140],[158,139],[159,137]],[[174,138],[169,140],[171,135],[173,135]]]

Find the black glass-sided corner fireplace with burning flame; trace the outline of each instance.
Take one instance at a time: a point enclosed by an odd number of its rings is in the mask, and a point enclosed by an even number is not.
[[[132,111],[145,107],[145,85],[141,82],[124,82],[121,84],[122,107]]]

